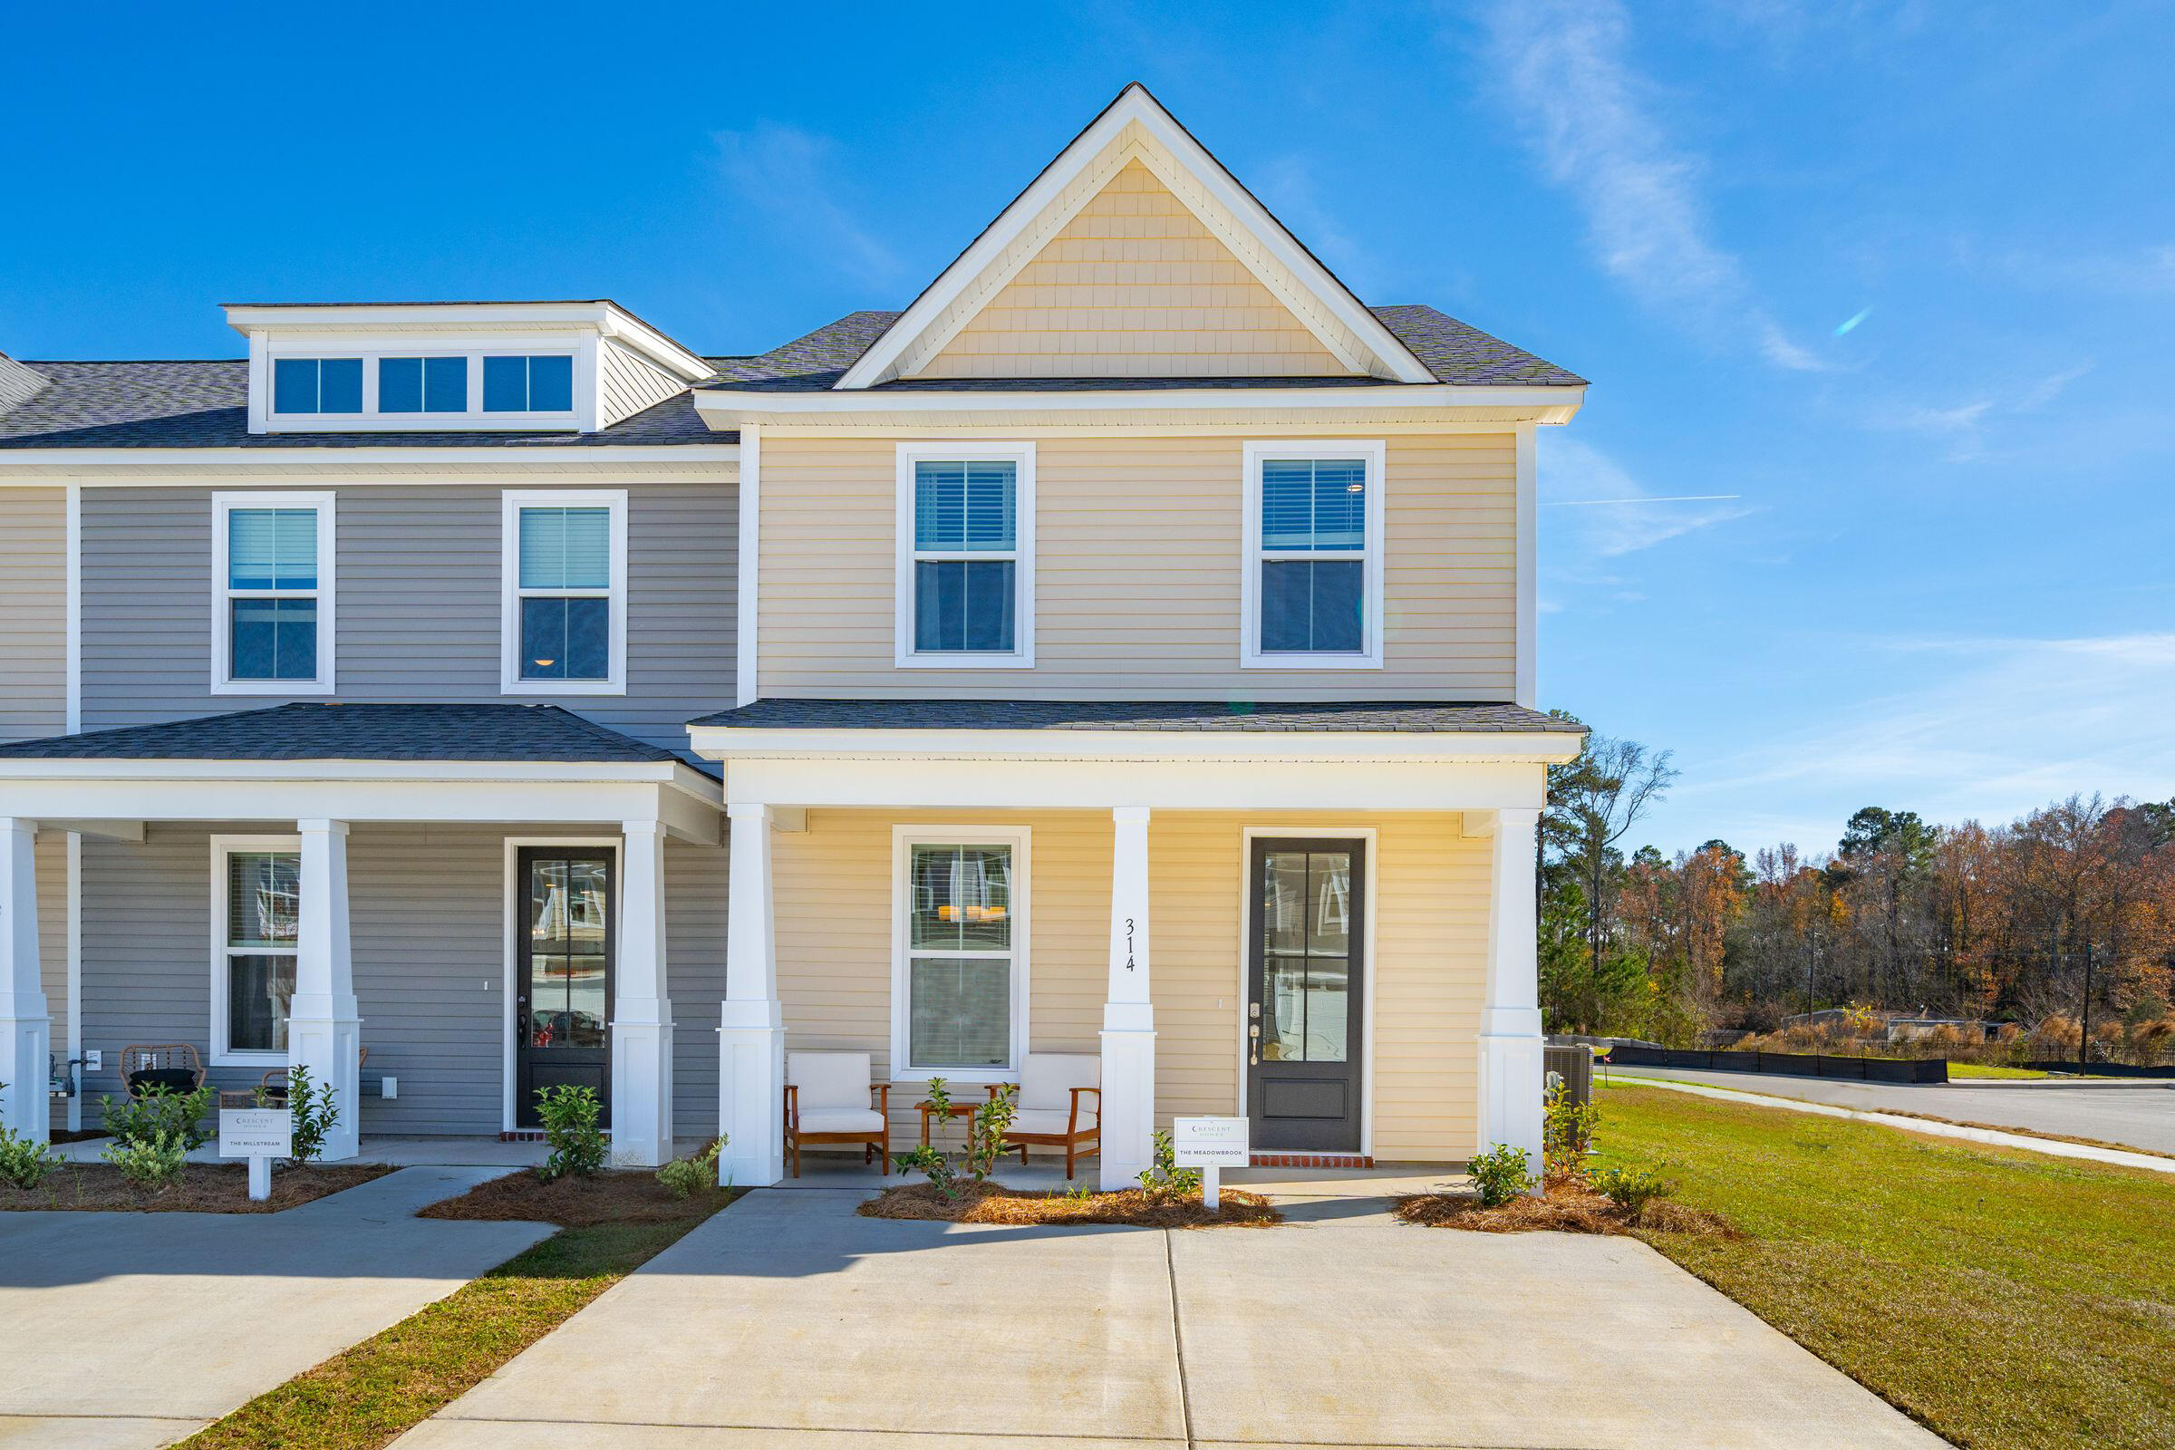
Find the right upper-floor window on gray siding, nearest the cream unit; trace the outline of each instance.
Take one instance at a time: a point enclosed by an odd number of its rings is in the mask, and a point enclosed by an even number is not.
[[[626,689],[626,493],[505,496],[500,691]]]

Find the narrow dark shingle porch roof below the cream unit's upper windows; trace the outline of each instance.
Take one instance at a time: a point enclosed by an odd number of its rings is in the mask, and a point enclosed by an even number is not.
[[[1488,700],[757,700],[689,720],[742,730],[1240,730],[1494,733],[1586,726]]]

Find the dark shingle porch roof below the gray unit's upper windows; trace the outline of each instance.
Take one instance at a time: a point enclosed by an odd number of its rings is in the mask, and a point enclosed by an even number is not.
[[[0,746],[67,761],[676,761],[557,704],[274,704]]]

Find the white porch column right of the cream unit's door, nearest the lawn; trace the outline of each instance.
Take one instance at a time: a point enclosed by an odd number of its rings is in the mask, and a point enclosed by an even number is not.
[[[1488,883],[1488,1002],[1481,1011],[1481,1133],[1525,1148],[1540,1174],[1540,950],[1533,928],[1533,830],[1540,811],[1496,811]]]

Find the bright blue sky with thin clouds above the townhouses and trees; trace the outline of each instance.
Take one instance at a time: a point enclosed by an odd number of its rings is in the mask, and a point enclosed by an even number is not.
[[[761,350],[1140,78],[1368,302],[1594,380],[1542,696],[1677,752],[1642,835],[2175,793],[2175,4],[1174,9],[20,7],[0,350],[520,296]]]

